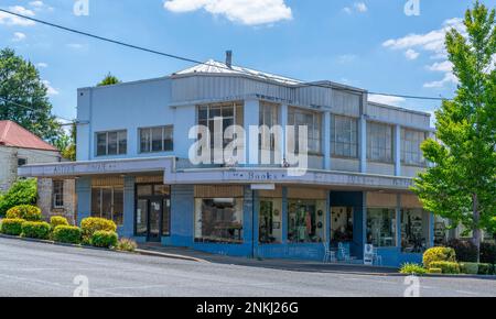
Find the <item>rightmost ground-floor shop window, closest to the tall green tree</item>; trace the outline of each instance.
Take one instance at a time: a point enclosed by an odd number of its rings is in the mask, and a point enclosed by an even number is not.
[[[423,253],[429,242],[429,213],[423,209],[401,209],[401,251]]]

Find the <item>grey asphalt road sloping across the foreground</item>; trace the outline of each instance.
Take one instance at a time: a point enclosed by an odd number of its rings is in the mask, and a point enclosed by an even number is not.
[[[403,277],[289,272],[0,238],[0,296],[403,296]],[[420,296],[496,296],[496,280],[420,278]]]

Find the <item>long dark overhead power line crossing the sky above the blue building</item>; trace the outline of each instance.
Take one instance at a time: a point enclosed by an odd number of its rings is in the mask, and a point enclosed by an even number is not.
[[[96,38],[96,40],[100,40],[100,41],[104,41],[104,42],[108,42],[108,43],[126,46],[126,47],[138,50],[138,51],[143,51],[143,52],[148,52],[148,53],[152,53],[152,54],[157,54],[157,55],[161,55],[161,56],[165,56],[165,57],[169,57],[169,58],[174,58],[174,59],[179,59],[179,61],[183,61],[183,62],[188,62],[188,63],[211,66],[208,63],[201,62],[201,61],[197,61],[197,59],[194,59],[194,58],[188,58],[188,57],[184,57],[184,56],[180,56],[180,55],[175,55],[175,54],[164,53],[164,52],[160,52],[160,51],[157,51],[157,50],[151,50],[151,48],[147,48],[147,47],[143,47],[143,46],[139,46],[139,45],[134,45],[134,44],[130,44],[130,43],[112,40],[112,38],[109,38],[109,37],[91,34],[91,33],[79,31],[79,30],[76,30],[76,29],[71,29],[71,28],[67,28],[67,26],[64,26],[64,25],[55,24],[55,23],[43,21],[43,20],[40,20],[40,19],[26,16],[26,15],[19,14],[19,13],[15,13],[15,12],[11,12],[11,11],[4,10],[4,9],[0,9],[0,11],[4,12],[4,13],[8,13],[8,14],[12,14],[12,15],[19,16],[19,18],[23,18],[23,19],[26,19],[26,20],[30,20],[30,21],[33,21],[33,22],[37,22],[37,23],[41,23],[41,24],[44,24],[44,25],[48,25],[48,26],[52,26],[52,28],[55,28],[55,29],[60,29],[60,30],[67,31],[67,32],[71,32],[71,33],[76,33],[76,34],[79,34],[79,35],[84,35],[84,36],[93,37],[93,38]],[[254,76],[251,73],[248,73],[248,72],[242,70],[242,69],[235,70],[233,68],[225,67],[225,66],[222,66],[222,65],[216,65],[216,67],[222,68],[222,69],[227,69],[229,72],[245,74],[245,75],[248,75],[248,76]],[[328,85],[321,85],[321,84],[309,82],[309,81],[301,81],[300,85],[309,86],[309,87],[331,88],[331,86],[328,86]],[[334,89],[336,89],[336,88],[334,88]],[[339,88],[337,90],[351,91],[351,89],[343,89],[343,88]],[[384,94],[384,92],[369,92],[369,94],[377,95],[377,96],[385,96],[385,97],[397,97],[397,98],[419,99],[419,100],[436,100],[436,101],[448,100],[445,98],[438,98],[438,97],[408,96],[408,95],[395,95],[395,94]]]

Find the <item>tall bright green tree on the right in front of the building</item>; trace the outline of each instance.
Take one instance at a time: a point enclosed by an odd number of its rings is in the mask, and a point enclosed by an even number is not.
[[[495,15],[477,0],[465,13],[466,35],[446,34],[460,84],[435,112],[436,139],[422,144],[433,165],[413,186],[425,209],[472,231],[478,252],[481,231],[492,231],[496,217]]]

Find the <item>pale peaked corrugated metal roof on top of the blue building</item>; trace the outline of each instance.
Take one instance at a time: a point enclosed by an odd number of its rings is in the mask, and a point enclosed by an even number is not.
[[[174,73],[173,75],[187,75],[187,74],[235,74],[235,75],[246,75],[257,77],[263,80],[273,80],[284,85],[299,85],[300,80],[282,77],[279,75],[273,75],[269,73],[263,73],[241,66],[228,67],[225,63],[217,62],[214,59],[209,59],[204,64],[195,65],[191,68],[186,68],[184,70],[180,70]]]

